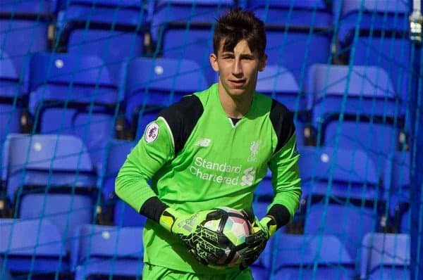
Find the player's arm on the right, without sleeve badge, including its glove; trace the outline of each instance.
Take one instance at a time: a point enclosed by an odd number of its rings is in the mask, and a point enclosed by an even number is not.
[[[251,265],[266,247],[266,242],[275,231],[293,218],[300,204],[301,186],[298,170],[295,125],[293,115],[279,103],[272,106],[270,113],[274,133],[278,139],[275,153],[269,161],[274,199],[262,219],[251,217],[253,232],[246,240],[248,250],[243,266]]]

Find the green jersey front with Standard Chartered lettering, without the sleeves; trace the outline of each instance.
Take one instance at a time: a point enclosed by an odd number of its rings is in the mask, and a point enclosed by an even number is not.
[[[187,211],[248,207],[276,146],[269,120],[271,101],[255,96],[247,115],[233,125],[219,98],[208,94],[199,95],[204,112],[157,184],[161,198],[181,203]]]

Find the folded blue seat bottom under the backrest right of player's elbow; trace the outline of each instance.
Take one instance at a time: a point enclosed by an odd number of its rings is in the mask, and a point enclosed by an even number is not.
[[[306,234],[331,234],[345,244],[353,262],[359,257],[362,237],[376,231],[379,219],[372,208],[334,203],[314,203],[307,207]]]

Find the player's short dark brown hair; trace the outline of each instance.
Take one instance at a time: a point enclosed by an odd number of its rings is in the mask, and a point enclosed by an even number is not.
[[[252,52],[264,55],[266,32],[264,23],[252,11],[235,8],[221,15],[214,27],[213,51],[217,54],[221,40],[225,39],[223,51],[233,51],[236,44],[245,39]]]

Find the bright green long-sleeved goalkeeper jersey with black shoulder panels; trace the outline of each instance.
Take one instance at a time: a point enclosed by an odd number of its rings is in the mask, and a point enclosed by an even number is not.
[[[214,84],[185,96],[147,125],[116,178],[116,193],[138,212],[152,196],[192,214],[219,206],[252,209],[253,192],[268,168],[274,199],[293,217],[301,196],[293,116],[255,93],[233,125]],[[151,180],[150,184],[148,182]],[[227,273],[201,265],[180,239],[147,219],[144,261],[183,272]]]

